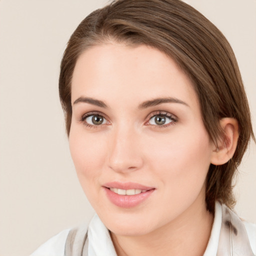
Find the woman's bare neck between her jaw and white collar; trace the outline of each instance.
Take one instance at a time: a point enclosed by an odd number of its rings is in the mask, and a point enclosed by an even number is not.
[[[117,255],[203,255],[210,237],[213,214],[206,210],[204,199],[203,202],[197,199],[176,219],[150,233],[139,236],[111,233]]]

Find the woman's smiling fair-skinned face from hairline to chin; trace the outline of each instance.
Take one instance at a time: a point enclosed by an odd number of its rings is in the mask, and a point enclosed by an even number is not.
[[[205,208],[213,145],[190,80],[157,49],[97,45],[77,60],[69,145],[106,227],[138,235]]]

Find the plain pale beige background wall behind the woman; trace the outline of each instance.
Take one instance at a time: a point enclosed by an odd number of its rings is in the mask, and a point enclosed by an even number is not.
[[[58,100],[59,62],[77,24],[106,0],[0,0],[0,256],[24,256],[92,209],[77,181]],[[188,0],[230,41],[256,131],[256,0]],[[236,210],[256,222],[255,145]]]

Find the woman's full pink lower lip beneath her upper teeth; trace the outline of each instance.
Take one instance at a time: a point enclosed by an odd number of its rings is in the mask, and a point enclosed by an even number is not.
[[[154,191],[154,189],[150,189],[145,192],[141,192],[139,194],[122,195],[122,194],[117,194],[111,191],[109,188],[106,188],[106,187],[103,187],[103,188],[110,202],[122,208],[131,208],[131,207],[137,206],[138,204],[146,200]]]

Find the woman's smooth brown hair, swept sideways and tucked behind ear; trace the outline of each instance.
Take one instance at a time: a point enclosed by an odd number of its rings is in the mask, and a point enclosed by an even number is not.
[[[219,120],[233,117],[238,121],[239,138],[234,155],[225,164],[210,164],[205,190],[210,212],[214,212],[216,200],[232,208],[233,176],[254,135],[239,68],[224,35],[181,0],[115,0],[93,11],[71,35],[60,65],[59,95],[67,134],[76,60],[87,48],[109,41],[131,46],[145,44],[172,58],[190,78],[204,126],[216,145],[218,139],[224,139]]]

